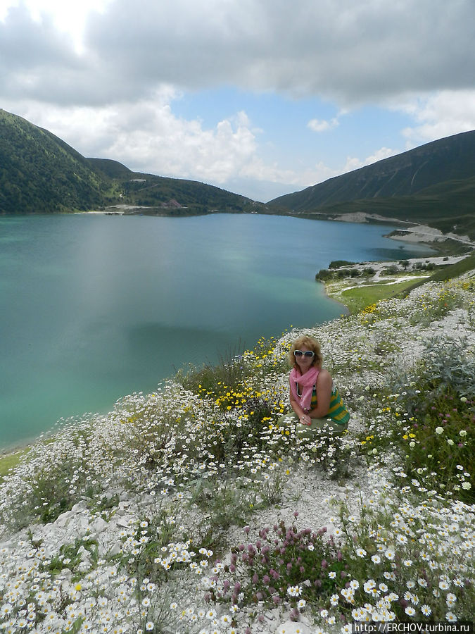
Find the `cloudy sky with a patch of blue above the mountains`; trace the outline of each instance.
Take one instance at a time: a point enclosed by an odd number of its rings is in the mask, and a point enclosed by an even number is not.
[[[475,0],[0,0],[0,108],[269,201],[475,129]]]

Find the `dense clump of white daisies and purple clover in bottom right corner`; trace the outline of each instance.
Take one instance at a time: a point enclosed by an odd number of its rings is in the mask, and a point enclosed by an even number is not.
[[[236,612],[243,605],[287,603],[293,621],[310,609],[329,626],[471,619],[474,587],[462,546],[469,507],[413,506],[407,495],[375,494],[356,515],[335,503],[340,526],[329,539],[327,528],[315,533],[286,528],[283,521],[272,531],[261,528],[259,539],[231,549],[230,563],[208,580],[208,596]],[[457,551],[452,566],[446,566],[449,548]]]

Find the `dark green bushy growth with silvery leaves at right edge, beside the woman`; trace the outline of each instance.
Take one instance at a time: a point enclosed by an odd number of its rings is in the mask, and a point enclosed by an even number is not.
[[[395,368],[386,388],[367,399],[369,434],[362,449],[396,450],[412,485],[424,492],[474,502],[475,354],[464,340],[425,342],[409,370]]]

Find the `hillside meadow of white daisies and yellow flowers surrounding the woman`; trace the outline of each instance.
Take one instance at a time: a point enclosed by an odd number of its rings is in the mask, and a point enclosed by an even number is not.
[[[278,424],[303,332],[352,415],[341,436]],[[0,480],[0,631],[471,620],[474,384],[468,274],[66,421]]]

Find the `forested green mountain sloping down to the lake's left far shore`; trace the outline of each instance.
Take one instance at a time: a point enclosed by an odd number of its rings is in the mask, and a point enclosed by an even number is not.
[[[118,204],[172,216],[264,209],[262,203],[213,185],[87,159],[48,130],[0,109],[0,214],[87,211]]]

